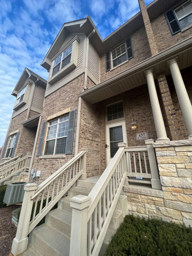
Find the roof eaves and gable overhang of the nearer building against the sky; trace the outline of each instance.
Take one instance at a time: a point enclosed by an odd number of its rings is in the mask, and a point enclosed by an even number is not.
[[[178,3],[178,0],[153,1],[147,6],[149,19],[154,20],[159,15],[164,14],[176,3]],[[90,38],[90,42],[95,50],[98,52],[98,54],[102,55],[120,44],[123,40],[125,40],[125,38],[130,37],[135,31],[143,26],[144,23],[142,14],[141,12],[138,12],[134,17],[132,17],[130,20],[128,20],[126,23],[124,23],[122,26],[120,26],[103,40],[90,16],[81,20],[64,23],[48,53],[46,54],[43,62],[41,63],[41,66],[49,71],[51,67],[51,59],[61,49],[63,42],[67,38],[67,35],[69,35],[70,33],[84,33],[86,36],[88,36],[93,31],[93,29],[95,29],[95,33]]]

